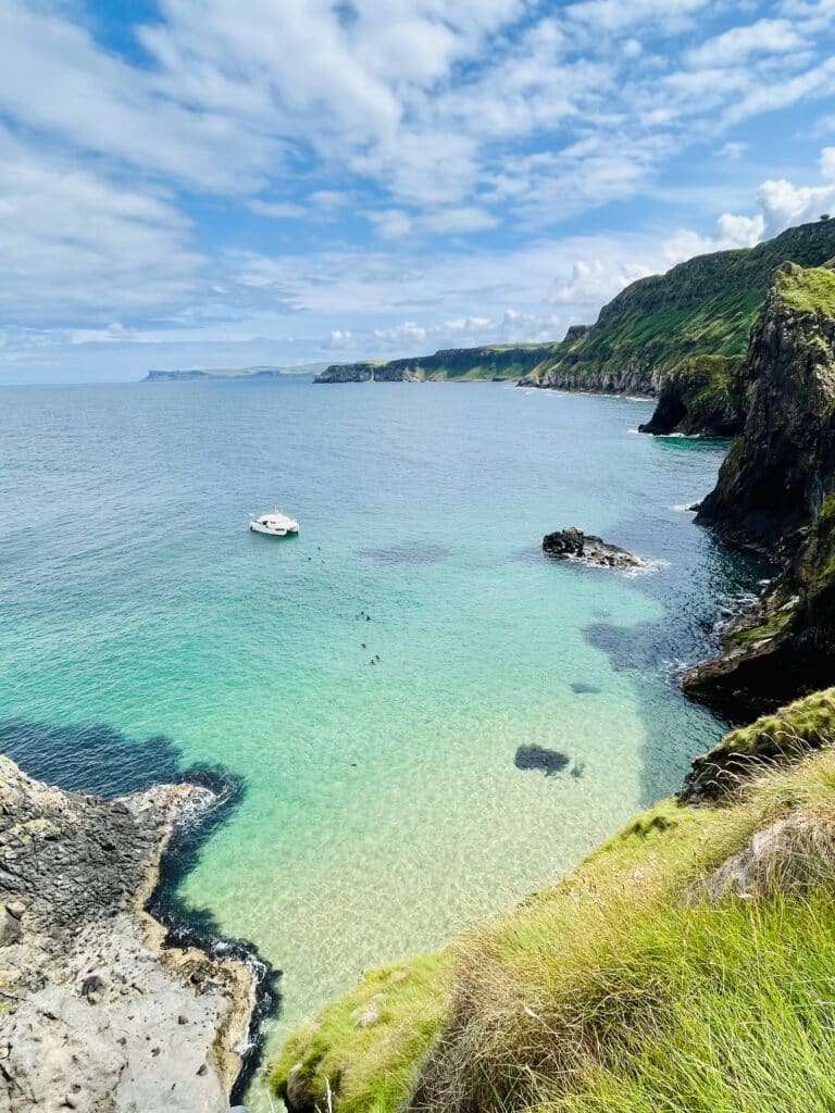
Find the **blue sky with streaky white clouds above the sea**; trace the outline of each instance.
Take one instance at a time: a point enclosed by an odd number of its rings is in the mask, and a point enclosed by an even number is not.
[[[835,213],[835,0],[0,0],[0,382],[560,338]]]

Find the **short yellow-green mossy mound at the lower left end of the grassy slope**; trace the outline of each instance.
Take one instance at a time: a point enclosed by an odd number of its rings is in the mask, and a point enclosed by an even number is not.
[[[445,1016],[450,956],[420,955],[365,975],[283,1048],[272,1075],[283,1095],[296,1064],[305,1090],[342,1113],[384,1113],[405,1101]]]

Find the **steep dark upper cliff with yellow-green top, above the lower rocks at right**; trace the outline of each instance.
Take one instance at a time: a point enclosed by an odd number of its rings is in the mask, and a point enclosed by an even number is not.
[[[773,550],[835,486],[835,273],[786,264],[752,335],[748,415],[697,522]]]

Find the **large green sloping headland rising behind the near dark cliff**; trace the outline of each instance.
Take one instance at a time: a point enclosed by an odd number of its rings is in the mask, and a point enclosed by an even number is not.
[[[656,395],[682,359],[745,355],[776,266],[786,259],[821,266],[833,255],[835,220],[823,220],[640,278],[603,306],[590,328],[554,345],[528,382]]]

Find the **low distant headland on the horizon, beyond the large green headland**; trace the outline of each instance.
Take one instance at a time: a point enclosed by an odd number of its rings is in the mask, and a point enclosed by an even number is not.
[[[550,344],[488,344],[474,348],[443,348],[434,355],[334,364],[317,383],[473,382],[522,378],[551,349]]]

